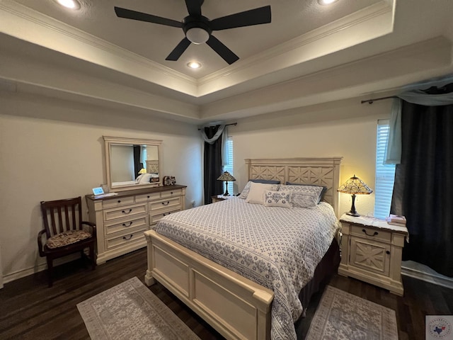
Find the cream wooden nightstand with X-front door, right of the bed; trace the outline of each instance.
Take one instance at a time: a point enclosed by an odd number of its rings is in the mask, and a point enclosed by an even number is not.
[[[406,227],[389,225],[373,217],[340,217],[341,262],[338,273],[403,295],[401,254]]]

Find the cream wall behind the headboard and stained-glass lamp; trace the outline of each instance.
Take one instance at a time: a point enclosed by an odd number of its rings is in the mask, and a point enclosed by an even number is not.
[[[248,179],[246,158],[343,157],[340,182],[357,175],[374,188],[377,120],[389,118],[391,101],[360,104],[361,98],[238,120],[229,128],[234,142],[235,193]],[[340,194],[340,213],[351,196]],[[372,214],[374,193],[357,196],[357,212]]]

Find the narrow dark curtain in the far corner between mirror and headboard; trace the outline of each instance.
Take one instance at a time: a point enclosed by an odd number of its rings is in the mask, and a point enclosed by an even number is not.
[[[220,125],[205,128],[205,134],[212,138]],[[212,203],[211,196],[223,193],[223,182],[217,181],[222,174],[222,138],[217,139],[213,144],[205,142],[205,204]]]

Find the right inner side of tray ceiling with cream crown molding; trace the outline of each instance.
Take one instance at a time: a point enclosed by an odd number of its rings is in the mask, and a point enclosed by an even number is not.
[[[394,1],[391,1],[391,4],[389,4],[389,1],[380,1],[297,38],[283,42],[260,53],[260,55],[239,60],[229,67],[198,79],[197,96],[205,96],[214,89],[215,91],[222,89],[222,86],[224,88],[234,86],[251,78],[258,78],[265,74],[302,64],[307,60],[319,58],[391,33],[393,22]],[[352,39],[351,37],[355,38]],[[342,45],[337,45],[333,49],[331,48],[332,45],[323,44],[323,40],[336,40],[337,43],[341,42]],[[320,43],[321,48],[319,48]],[[310,45],[310,48],[308,45]],[[247,77],[243,77],[243,74],[247,74]],[[216,82],[220,82],[220,84],[214,84]],[[225,84],[228,84],[228,86]]]

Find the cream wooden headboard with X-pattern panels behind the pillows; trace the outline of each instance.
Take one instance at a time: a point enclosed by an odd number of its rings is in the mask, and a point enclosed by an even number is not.
[[[331,203],[338,216],[340,162],[343,157],[246,159],[248,179],[273,179],[280,183],[326,186],[324,200]]]

